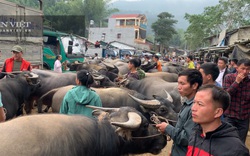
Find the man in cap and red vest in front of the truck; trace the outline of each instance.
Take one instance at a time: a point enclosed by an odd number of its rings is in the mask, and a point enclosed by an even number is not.
[[[2,72],[13,72],[13,71],[27,71],[31,70],[30,62],[23,59],[23,49],[19,45],[15,45],[11,52],[13,57],[5,60]],[[4,73],[0,73],[0,79],[5,76]]]

